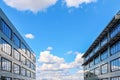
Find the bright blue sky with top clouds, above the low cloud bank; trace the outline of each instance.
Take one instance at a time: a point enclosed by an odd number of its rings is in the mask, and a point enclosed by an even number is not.
[[[74,63],[120,10],[120,0],[32,1],[0,0],[0,7],[36,53],[39,68],[47,64],[44,54]]]

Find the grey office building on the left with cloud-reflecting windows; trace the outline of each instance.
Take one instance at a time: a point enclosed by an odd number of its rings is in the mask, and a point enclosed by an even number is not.
[[[0,80],[36,80],[35,65],[33,51],[0,9]]]

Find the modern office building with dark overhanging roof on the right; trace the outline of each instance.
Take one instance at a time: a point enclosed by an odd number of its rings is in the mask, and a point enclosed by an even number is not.
[[[120,12],[82,57],[84,80],[120,80]]]

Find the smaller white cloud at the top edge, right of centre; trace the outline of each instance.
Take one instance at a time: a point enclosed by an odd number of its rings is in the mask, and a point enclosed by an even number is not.
[[[96,0],[64,0],[66,3],[67,7],[75,7],[79,8],[81,4],[83,3],[91,3],[91,2],[96,2]]]

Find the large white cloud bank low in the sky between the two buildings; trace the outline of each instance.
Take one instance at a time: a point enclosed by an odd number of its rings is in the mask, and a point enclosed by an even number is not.
[[[83,80],[82,54],[75,53],[75,60],[68,63],[64,58],[51,54],[48,48],[40,52],[37,80]],[[75,72],[71,74],[71,70]]]

